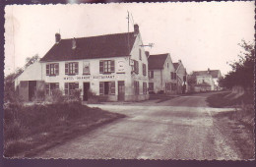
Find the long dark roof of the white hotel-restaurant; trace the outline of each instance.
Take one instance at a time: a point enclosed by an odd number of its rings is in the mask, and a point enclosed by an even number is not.
[[[128,36],[130,48],[128,48]],[[129,56],[135,39],[134,32],[81,37],[75,38],[77,46],[75,49],[72,49],[73,38],[61,39],[51,47],[41,61]]]

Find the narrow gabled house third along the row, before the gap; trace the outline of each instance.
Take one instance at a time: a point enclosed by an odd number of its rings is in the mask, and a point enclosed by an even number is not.
[[[175,73],[177,74],[177,93],[185,93],[188,89],[187,86],[187,72],[181,60],[173,63]]]

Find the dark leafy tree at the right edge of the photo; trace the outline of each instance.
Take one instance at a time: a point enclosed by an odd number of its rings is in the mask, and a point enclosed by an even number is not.
[[[239,85],[246,89],[254,85],[254,44],[242,40],[238,45],[243,49],[238,55],[239,60],[229,63],[232,71],[228,72],[220,83],[226,88]]]

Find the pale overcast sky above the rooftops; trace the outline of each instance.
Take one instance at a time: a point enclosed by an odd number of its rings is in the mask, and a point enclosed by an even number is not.
[[[186,2],[80,5],[12,5],[5,8],[5,73],[43,57],[61,38],[126,32],[127,11],[152,54],[170,53],[188,73],[220,69],[237,59],[241,39],[253,41],[254,2]],[[130,21],[130,31],[133,31]]]

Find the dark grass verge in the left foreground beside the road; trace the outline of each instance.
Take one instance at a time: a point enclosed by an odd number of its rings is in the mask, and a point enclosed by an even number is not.
[[[123,117],[79,102],[10,104],[4,109],[4,156],[32,157]]]

